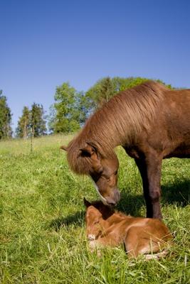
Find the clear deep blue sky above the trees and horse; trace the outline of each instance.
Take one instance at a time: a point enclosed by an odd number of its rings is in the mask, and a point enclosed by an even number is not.
[[[0,89],[14,127],[23,106],[48,108],[56,86],[105,76],[190,87],[189,0],[1,0]]]

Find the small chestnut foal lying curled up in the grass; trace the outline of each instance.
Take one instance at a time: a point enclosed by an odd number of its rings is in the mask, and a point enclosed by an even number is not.
[[[159,219],[127,216],[115,212],[101,201],[90,203],[84,199],[84,204],[87,207],[87,236],[92,250],[98,246],[124,243],[130,257],[151,253],[145,256],[148,260],[167,255],[166,246],[171,243],[172,236]]]

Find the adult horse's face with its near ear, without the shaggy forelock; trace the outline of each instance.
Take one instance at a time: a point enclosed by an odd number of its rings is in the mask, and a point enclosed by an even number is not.
[[[80,151],[81,155],[90,160],[89,174],[102,202],[106,205],[117,204],[120,200],[120,192],[117,189],[119,162],[115,152],[112,151],[111,155],[102,157],[97,148],[89,143]]]

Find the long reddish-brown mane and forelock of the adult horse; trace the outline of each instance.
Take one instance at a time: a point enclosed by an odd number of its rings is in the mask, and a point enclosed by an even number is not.
[[[158,82],[147,81],[112,97],[70,141],[67,148],[70,168],[76,173],[89,174],[90,159],[80,155],[80,148],[85,147],[86,142],[105,156],[113,155],[115,146],[127,146],[135,141],[142,127],[149,127],[149,122],[155,119],[166,90]]]

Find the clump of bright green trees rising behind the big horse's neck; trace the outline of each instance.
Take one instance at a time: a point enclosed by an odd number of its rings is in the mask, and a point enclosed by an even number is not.
[[[102,107],[117,92],[147,80],[143,77],[105,77],[98,80],[86,93],[78,92],[68,82],[64,82],[56,88],[56,102],[51,106],[48,116],[49,130],[52,133],[77,131],[93,111]]]

